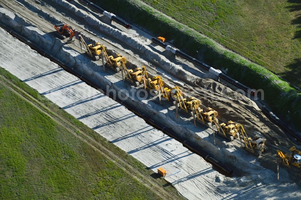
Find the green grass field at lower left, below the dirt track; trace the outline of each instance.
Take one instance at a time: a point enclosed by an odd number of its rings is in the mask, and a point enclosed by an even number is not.
[[[0,199],[160,199],[3,84],[0,114]]]

